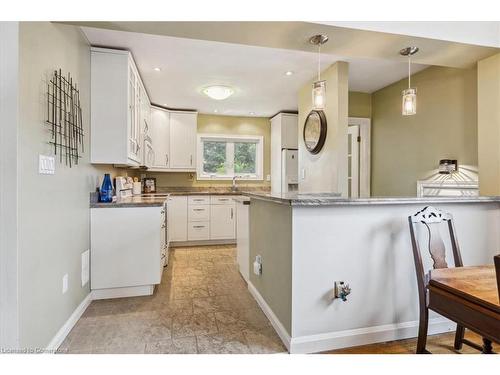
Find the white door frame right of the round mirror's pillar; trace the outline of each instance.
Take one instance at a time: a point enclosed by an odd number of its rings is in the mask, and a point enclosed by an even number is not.
[[[371,196],[371,119],[349,117],[347,125],[359,126],[359,197]]]

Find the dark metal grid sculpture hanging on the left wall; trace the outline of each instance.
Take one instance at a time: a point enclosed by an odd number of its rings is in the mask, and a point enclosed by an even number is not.
[[[52,135],[49,143],[54,146],[54,154],[59,153],[59,161],[64,159],[70,167],[77,165],[84,152],[80,91],[71,75],[63,76],[61,69],[54,70],[47,83],[46,123]]]

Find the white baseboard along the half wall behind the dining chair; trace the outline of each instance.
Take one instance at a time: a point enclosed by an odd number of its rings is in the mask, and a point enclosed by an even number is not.
[[[455,330],[456,324],[443,318],[429,320],[428,335]],[[318,353],[378,342],[416,337],[418,321],[364,327],[345,331],[300,336],[291,339],[290,353]]]

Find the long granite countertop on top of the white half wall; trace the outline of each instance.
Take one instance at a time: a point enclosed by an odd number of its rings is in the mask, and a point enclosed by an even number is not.
[[[500,202],[500,197],[373,197],[342,198],[339,193],[260,193],[246,192],[251,199],[290,206],[355,206],[383,204],[439,204]]]

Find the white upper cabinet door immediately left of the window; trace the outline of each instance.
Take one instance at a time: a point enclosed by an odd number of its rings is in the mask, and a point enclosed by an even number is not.
[[[196,126],[198,114],[170,113],[170,168],[196,169]]]

